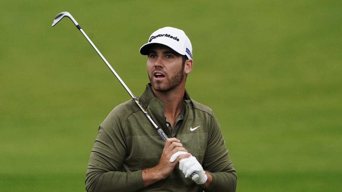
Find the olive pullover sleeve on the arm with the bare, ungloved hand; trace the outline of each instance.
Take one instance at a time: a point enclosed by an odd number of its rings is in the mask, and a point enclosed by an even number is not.
[[[86,174],[86,190],[138,191],[144,188],[141,170],[120,172],[127,148],[122,125],[115,109],[98,128]]]

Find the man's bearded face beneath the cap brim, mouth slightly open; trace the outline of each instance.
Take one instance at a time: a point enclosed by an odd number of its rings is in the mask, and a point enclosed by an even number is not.
[[[153,45],[147,55],[147,72],[155,91],[173,90],[184,79],[182,55],[166,45]]]

